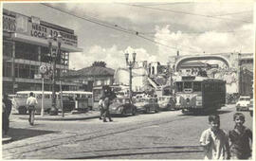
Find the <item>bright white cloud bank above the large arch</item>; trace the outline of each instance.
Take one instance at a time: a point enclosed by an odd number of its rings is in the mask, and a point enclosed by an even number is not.
[[[180,54],[200,54],[220,52],[253,52],[253,25],[243,25],[234,28],[235,32],[206,31],[198,34],[188,34],[182,31],[173,31],[167,25],[155,27],[155,41],[164,45],[158,45],[159,60],[166,60],[168,56],[174,56],[177,50]]]

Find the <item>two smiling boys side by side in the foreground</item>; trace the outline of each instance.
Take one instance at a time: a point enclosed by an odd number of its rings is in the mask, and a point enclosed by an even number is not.
[[[233,120],[234,129],[227,134],[220,129],[220,116],[209,116],[210,128],[205,130],[200,137],[206,160],[249,159],[251,157],[252,132],[244,126],[246,117],[242,113],[236,113]]]

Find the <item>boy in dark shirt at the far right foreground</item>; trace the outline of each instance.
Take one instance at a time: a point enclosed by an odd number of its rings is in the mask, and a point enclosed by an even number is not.
[[[252,132],[243,124],[246,117],[242,113],[235,113],[234,129],[229,131],[230,152],[232,159],[248,159],[251,156]]]

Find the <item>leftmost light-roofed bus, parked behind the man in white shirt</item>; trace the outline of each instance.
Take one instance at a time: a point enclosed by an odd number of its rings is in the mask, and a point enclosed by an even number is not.
[[[13,107],[14,111],[18,112],[19,114],[27,114],[27,98],[29,97],[30,92],[33,92],[34,97],[37,99],[38,104],[36,105],[35,112],[41,113],[42,109],[42,91],[19,91],[16,93],[15,98],[13,99]],[[58,93],[56,93],[58,96]],[[44,111],[49,112],[52,106],[52,92],[45,91],[44,92]],[[56,107],[60,108],[60,100],[58,97],[56,98]]]

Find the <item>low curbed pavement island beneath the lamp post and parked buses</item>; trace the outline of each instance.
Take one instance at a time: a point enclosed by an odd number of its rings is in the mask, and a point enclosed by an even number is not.
[[[64,117],[62,113],[59,113],[58,116],[49,116],[45,114],[44,116],[35,115],[36,120],[82,120],[82,119],[90,119],[90,118],[97,118],[100,116],[99,111],[89,111],[86,113],[81,114],[71,114],[71,113],[64,113]],[[20,119],[28,119],[28,115],[26,116],[19,116]]]

